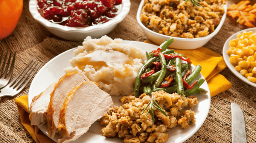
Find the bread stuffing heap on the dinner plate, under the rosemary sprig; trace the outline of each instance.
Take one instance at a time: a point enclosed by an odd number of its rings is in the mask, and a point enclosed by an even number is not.
[[[155,107],[154,122],[151,112],[147,114],[149,106],[146,108],[151,97],[142,94],[139,98],[133,95],[124,96],[120,99],[123,103],[120,107],[110,108],[110,112],[106,112],[101,118],[101,132],[105,137],[119,137],[125,143],[163,143],[168,139],[165,133],[171,128],[179,125],[186,129],[190,125],[195,124],[195,112],[186,110],[192,108],[198,103],[196,97],[180,96],[177,93],[168,94],[165,91],[152,92],[151,94],[158,105],[167,113],[165,116]]]

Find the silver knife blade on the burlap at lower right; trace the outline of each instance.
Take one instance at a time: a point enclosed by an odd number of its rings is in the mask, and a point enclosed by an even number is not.
[[[232,143],[247,143],[244,114],[236,103],[231,103],[232,113]]]

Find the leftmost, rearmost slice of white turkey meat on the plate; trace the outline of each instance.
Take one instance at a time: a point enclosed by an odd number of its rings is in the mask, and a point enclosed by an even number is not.
[[[58,80],[50,84],[40,95],[33,98],[29,107],[29,119],[31,125],[38,125],[46,122],[46,112],[50,102],[50,94],[57,82]]]

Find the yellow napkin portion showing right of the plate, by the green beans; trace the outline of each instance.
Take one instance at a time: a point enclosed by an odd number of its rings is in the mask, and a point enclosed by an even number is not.
[[[145,43],[155,45],[155,43],[149,40],[145,41]],[[174,51],[183,54],[185,58],[189,57],[194,65],[200,64],[202,66],[201,73],[207,81],[211,97],[232,87],[231,83],[219,74],[219,72],[227,67],[221,55],[204,47],[192,50],[174,49]]]

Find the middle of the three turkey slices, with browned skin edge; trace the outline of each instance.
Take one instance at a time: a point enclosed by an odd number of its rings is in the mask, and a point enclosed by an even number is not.
[[[55,84],[47,108],[47,124],[50,137],[53,138],[57,131],[60,109],[69,91],[85,81],[89,81],[89,79],[84,74],[73,72],[65,74],[59,79],[58,83]]]

